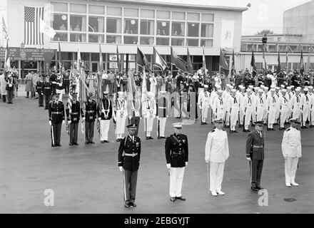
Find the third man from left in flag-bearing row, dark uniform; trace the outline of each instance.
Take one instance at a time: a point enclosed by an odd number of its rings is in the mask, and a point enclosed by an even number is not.
[[[82,118],[85,120],[85,144],[93,142],[93,127],[95,125],[97,115],[97,104],[96,100],[92,99],[93,93],[88,93],[87,101],[85,102],[85,113],[81,110]]]

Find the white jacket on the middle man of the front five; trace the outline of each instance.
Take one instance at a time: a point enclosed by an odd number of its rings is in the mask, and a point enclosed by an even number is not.
[[[229,157],[228,135],[225,130],[215,129],[208,133],[205,160],[211,162],[226,162]]]

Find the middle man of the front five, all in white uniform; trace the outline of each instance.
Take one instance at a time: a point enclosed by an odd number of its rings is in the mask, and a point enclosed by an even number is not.
[[[206,147],[205,147],[205,161],[210,162],[210,191],[211,195],[217,196],[225,195],[221,191],[221,184],[223,182],[223,170],[225,162],[229,157],[228,135],[223,130],[223,119],[217,118],[214,120],[216,129],[208,133]]]

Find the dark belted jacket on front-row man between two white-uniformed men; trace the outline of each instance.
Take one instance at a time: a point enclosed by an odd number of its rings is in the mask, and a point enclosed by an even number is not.
[[[248,140],[246,140],[246,157],[250,157],[252,160],[264,160],[264,142],[265,133],[262,132],[262,137],[257,130],[253,130],[248,134]],[[262,146],[255,148],[255,146]]]

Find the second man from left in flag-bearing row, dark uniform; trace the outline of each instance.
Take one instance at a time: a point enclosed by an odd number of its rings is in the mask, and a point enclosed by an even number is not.
[[[77,100],[77,93],[72,94],[71,104],[66,103],[66,117],[69,124],[69,135],[70,143],[69,145],[78,145],[77,135],[78,135],[78,123],[81,115],[81,105]],[[70,108],[71,105],[71,108]],[[71,109],[71,112],[70,112]]]

